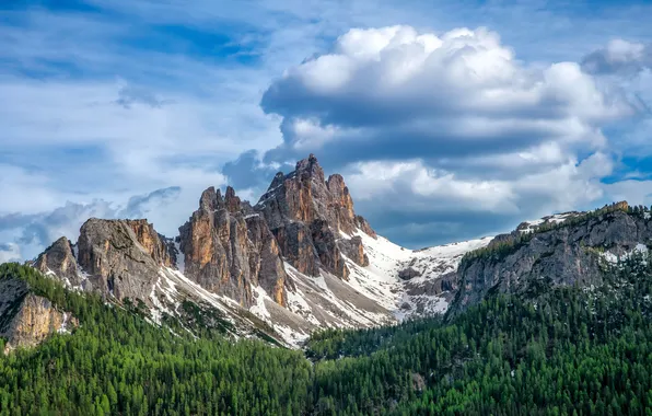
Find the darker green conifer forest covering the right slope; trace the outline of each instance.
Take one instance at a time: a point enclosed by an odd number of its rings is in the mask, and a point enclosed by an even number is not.
[[[334,332],[308,344],[333,414],[596,415],[652,409],[652,264],[637,255],[593,291],[497,296],[453,319]],[[344,335],[344,336],[342,336]],[[386,342],[384,339],[392,339]],[[374,353],[358,354],[363,339]],[[325,355],[325,351],[326,355]],[[339,360],[328,357],[345,356]],[[393,380],[385,383],[383,380]]]

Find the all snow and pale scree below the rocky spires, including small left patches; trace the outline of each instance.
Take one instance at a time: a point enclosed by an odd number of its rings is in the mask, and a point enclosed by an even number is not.
[[[228,296],[208,290],[184,274],[185,258],[178,243],[172,249],[174,264],[153,269],[154,278],[148,284],[143,297],[132,299],[132,303],[143,301],[149,308],[149,311],[144,310],[149,320],[156,325],[165,325],[170,317],[175,317],[184,330],[196,335],[209,326],[236,339],[264,334],[281,345],[298,347],[319,328],[372,327],[410,316],[445,312],[451,288],[442,286],[442,277],[454,275],[464,253],[489,242],[484,239],[412,251],[360,229],[351,235],[340,232],[338,236],[345,240],[359,238],[369,265],[363,267],[342,256],[350,271],[348,278],[342,279],[324,269],[319,269],[318,276],[308,276],[286,261],[283,268],[292,285],[287,289],[284,305],[277,303],[272,293],[261,286],[252,287],[254,300],[247,309]],[[145,251],[141,245],[136,247]],[[74,250],[73,245],[71,250]],[[74,263],[75,281],[86,282],[88,274],[78,258],[70,254],[68,262]],[[411,280],[400,278],[406,268],[415,269],[418,277]],[[48,267],[45,273],[69,288],[93,289],[91,285],[73,286],[67,276],[57,276]],[[147,281],[142,280],[142,284]],[[107,302],[121,303],[110,288],[105,296]]]

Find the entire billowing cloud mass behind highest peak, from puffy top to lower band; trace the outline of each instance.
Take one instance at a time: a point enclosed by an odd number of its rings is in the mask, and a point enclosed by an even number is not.
[[[270,84],[260,105],[283,142],[229,176],[268,183],[260,166],[313,152],[379,231],[414,246],[592,208],[614,197],[604,128],[638,107],[587,72],[528,66],[485,28],[350,30]]]

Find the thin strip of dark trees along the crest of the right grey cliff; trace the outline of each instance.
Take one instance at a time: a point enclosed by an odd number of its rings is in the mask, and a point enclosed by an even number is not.
[[[488,246],[474,250],[466,253],[459,263],[459,267],[466,267],[471,261],[478,258],[494,258],[501,261],[515,253],[523,245],[527,244],[536,234],[544,232],[559,230],[562,228],[575,227],[587,222],[594,218],[601,218],[605,215],[613,213],[616,211],[622,211],[630,215],[644,215],[650,212],[648,207],[643,206],[629,206],[626,201],[614,203],[605,205],[603,208],[595,209],[593,211],[583,212],[577,216],[568,217],[563,221],[547,221],[539,226],[533,227],[529,231],[514,231],[509,235],[501,236],[501,241],[493,241]]]

